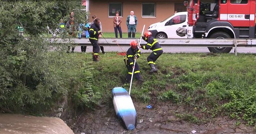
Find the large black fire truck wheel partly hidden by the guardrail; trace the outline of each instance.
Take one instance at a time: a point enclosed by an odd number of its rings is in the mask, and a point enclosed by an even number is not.
[[[231,38],[231,37],[225,32],[217,32],[212,34],[209,38],[225,39],[225,38]],[[213,53],[229,53],[232,47],[208,47],[208,49],[210,52],[213,52]]]

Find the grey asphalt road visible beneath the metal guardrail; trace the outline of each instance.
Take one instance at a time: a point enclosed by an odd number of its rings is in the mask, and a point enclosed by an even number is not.
[[[123,52],[127,51],[130,46],[104,46],[104,51],[118,51]],[[207,47],[162,47],[165,53],[208,53],[210,52]],[[123,49],[123,50],[122,50]],[[234,52],[235,48],[233,48],[230,53]],[[76,52],[81,52],[81,47],[76,46]],[[152,52],[151,50],[140,50],[141,52]],[[92,46],[87,46],[86,52],[92,52]],[[101,52],[101,51],[100,51]],[[239,47],[237,48],[238,53],[256,53],[255,47]]]

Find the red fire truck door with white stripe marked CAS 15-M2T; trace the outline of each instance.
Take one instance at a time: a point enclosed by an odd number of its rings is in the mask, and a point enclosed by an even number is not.
[[[248,0],[227,0],[227,20],[234,27],[249,27],[250,23],[250,1]],[[220,7],[222,10],[222,7]]]

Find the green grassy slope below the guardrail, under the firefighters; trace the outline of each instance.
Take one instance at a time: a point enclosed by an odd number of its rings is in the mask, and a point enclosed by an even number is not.
[[[139,35],[139,34],[137,34]],[[256,56],[253,54],[168,54],[157,59],[158,72],[150,75],[147,56],[137,60],[144,83],[133,81],[134,101],[171,101],[184,105],[187,114],[197,119],[230,115],[249,125],[256,123]],[[84,53],[68,54],[76,69],[86,59]],[[102,102],[111,102],[111,90],[130,84],[123,83],[127,73],[123,56],[115,52],[100,55],[99,62],[87,54],[86,65],[91,66],[92,89],[101,95]],[[198,114],[200,113],[200,114]],[[195,121],[196,119],[196,121]]]

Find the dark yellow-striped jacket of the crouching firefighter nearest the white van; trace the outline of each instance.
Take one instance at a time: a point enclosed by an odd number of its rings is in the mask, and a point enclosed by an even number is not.
[[[159,51],[159,50],[163,50],[160,46],[160,44],[158,43],[158,41],[156,40],[156,38],[150,36],[149,38],[143,36],[142,39],[147,43],[147,45],[142,45],[141,48],[142,49],[150,49],[153,51]]]

